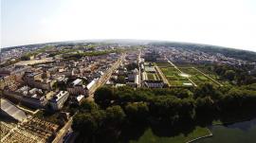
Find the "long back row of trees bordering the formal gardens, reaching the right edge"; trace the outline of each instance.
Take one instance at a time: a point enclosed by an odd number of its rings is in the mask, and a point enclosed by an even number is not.
[[[148,109],[146,110],[148,113],[145,115],[173,123],[193,119],[198,114],[224,113],[253,108],[256,106],[255,88],[255,83],[241,87],[215,87],[210,83],[204,83],[194,89],[133,89],[105,86],[96,91],[94,98],[102,109],[111,105],[119,105],[126,114],[128,105],[135,106],[135,108],[147,106],[145,109]]]

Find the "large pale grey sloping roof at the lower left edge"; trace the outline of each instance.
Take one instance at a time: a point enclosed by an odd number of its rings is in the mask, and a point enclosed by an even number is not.
[[[5,112],[9,116],[17,119],[18,121],[22,121],[23,119],[27,118],[24,111],[17,108],[13,105],[9,100],[0,98],[1,100],[1,112]]]

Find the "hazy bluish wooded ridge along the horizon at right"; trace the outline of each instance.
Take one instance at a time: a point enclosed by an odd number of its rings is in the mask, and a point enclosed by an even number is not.
[[[216,45],[199,45],[199,44],[188,44],[188,43],[152,43],[151,45],[173,46],[173,47],[180,47],[184,49],[200,50],[202,52],[206,52],[210,54],[221,53],[226,57],[256,63],[256,52],[247,51],[247,50],[233,49],[233,48],[216,46]]]

